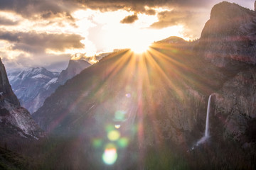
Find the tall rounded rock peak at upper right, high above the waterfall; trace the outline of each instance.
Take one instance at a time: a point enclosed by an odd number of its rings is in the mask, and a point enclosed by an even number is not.
[[[238,62],[256,64],[255,16],[255,11],[237,4],[215,5],[201,33],[203,57],[225,69],[234,69]]]

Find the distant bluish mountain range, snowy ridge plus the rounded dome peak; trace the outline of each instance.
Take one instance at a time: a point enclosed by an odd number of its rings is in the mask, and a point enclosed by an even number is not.
[[[60,74],[37,67],[9,74],[9,79],[14,93],[21,101],[21,106],[33,114],[43,106],[43,102],[58,86],[65,84],[65,81],[88,66],[90,64],[84,60],[70,60],[67,69]]]

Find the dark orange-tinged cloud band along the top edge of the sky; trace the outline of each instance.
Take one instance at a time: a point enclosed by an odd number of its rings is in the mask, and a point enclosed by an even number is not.
[[[101,11],[117,11],[125,9],[137,13],[153,15],[153,9],[159,6],[198,7],[206,6],[210,2],[205,0],[1,0],[0,10],[14,11],[25,18],[54,18],[66,17],[73,19],[70,13],[78,8],[100,9]]]

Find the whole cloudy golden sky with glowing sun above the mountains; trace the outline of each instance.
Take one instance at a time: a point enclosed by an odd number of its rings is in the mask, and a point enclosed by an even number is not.
[[[0,57],[7,72],[65,69],[68,60],[200,38],[219,0],[0,0]],[[253,0],[230,0],[253,9]]]

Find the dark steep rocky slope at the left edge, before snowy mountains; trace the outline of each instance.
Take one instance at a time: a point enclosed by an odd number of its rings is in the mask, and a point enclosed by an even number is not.
[[[0,136],[1,142],[9,142],[14,137],[38,138],[43,131],[31,118],[30,113],[20,106],[0,59]]]

